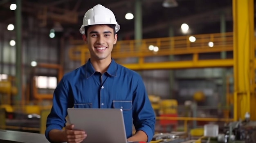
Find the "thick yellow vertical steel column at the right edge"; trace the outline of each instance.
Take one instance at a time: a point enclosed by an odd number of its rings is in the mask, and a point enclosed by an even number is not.
[[[233,19],[234,119],[244,119],[249,112],[255,120],[254,0],[233,0]]]

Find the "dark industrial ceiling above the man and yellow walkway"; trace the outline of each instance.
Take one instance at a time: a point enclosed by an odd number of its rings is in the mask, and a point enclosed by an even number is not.
[[[224,30],[233,30],[232,0],[170,0],[177,5],[168,8],[163,7],[164,1],[141,0],[143,38],[167,37],[170,26],[175,36],[182,35],[182,23],[190,26],[189,34],[219,33],[221,14],[224,14]],[[9,9],[11,3],[15,0],[0,1],[1,23],[15,23],[15,12]],[[131,12],[135,15],[135,0],[22,0],[23,31],[32,17],[40,27],[51,29],[60,24],[63,33],[81,39],[79,28],[83,15],[96,4],[102,4],[115,13],[121,25],[118,34],[122,39],[134,38],[135,19],[126,20],[125,14]]]

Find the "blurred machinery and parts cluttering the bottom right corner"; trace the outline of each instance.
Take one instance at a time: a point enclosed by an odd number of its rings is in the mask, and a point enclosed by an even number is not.
[[[255,127],[256,122],[251,121],[231,122],[223,127],[206,124],[197,138],[186,132],[158,133],[150,143],[256,143]]]

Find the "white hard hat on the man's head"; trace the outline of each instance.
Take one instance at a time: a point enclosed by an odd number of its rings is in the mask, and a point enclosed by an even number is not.
[[[117,24],[114,13],[101,4],[97,4],[85,13],[83,17],[83,25],[80,28],[80,33],[85,34],[85,26],[96,24],[115,24],[116,33],[120,29],[120,25]]]

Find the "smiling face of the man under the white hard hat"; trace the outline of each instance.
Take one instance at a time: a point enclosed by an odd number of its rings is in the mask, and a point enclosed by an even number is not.
[[[90,26],[87,37],[83,35],[83,40],[87,42],[92,60],[111,59],[111,51],[117,42],[117,34],[107,25]]]

